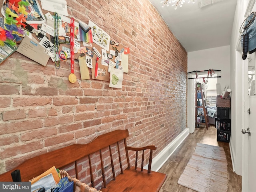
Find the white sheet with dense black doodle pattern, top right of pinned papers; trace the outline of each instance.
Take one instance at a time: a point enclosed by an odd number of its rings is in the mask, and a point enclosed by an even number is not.
[[[89,24],[92,30],[92,39],[93,42],[96,43],[101,48],[109,50],[110,44],[110,36],[104,32],[101,28],[99,28],[96,24],[94,24],[91,20],[89,20]]]

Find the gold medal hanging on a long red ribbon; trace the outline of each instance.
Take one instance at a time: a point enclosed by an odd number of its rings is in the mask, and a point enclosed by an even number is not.
[[[74,74],[74,28],[75,28],[75,20],[74,18],[71,18],[70,22],[70,52],[71,52],[71,73],[68,76],[68,80],[70,83],[75,83],[76,82],[76,75]]]

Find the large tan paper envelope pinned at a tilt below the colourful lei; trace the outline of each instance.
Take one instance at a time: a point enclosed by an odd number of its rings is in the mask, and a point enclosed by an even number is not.
[[[38,42],[25,36],[20,43],[17,52],[38,62],[42,66],[46,66],[50,56],[47,54],[48,50],[38,44]]]

